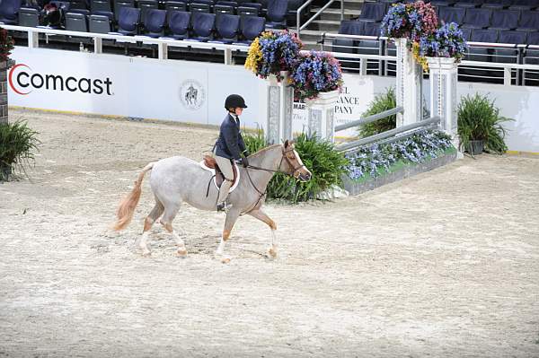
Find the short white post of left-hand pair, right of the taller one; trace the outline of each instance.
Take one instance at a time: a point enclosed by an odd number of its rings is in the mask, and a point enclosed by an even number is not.
[[[305,100],[308,135],[335,141],[335,103],[339,91],[321,92],[315,100]]]

